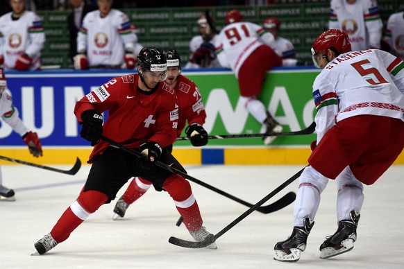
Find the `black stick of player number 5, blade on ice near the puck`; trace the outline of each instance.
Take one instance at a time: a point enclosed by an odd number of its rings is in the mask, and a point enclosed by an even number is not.
[[[306,167],[307,166],[305,166],[305,168]],[[219,238],[220,236],[222,236],[223,234],[228,232],[228,230],[231,229],[232,227],[234,227],[237,223],[239,223],[244,218],[246,218],[246,216],[249,216],[249,214],[253,213],[253,211],[255,209],[257,209],[258,207],[260,207],[262,204],[264,204],[264,202],[267,202],[267,200],[269,200],[270,198],[275,196],[276,193],[278,193],[279,191],[282,191],[283,189],[285,189],[285,187],[287,185],[294,182],[294,180],[296,180],[298,177],[300,177],[303,170],[304,170],[304,168],[301,169],[301,171],[298,171],[292,177],[290,177],[289,180],[286,180],[285,182],[283,182],[283,184],[278,186],[278,188],[274,189],[271,193],[269,193],[267,196],[262,198],[262,200],[260,200],[260,202],[257,202],[253,207],[251,207],[249,210],[245,211],[242,215],[240,215],[238,218],[233,220],[232,223],[230,223],[229,225],[227,225],[226,227],[221,229],[221,231],[218,232],[217,234],[210,235],[210,236],[206,237],[204,241],[201,241],[201,242],[186,241],[186,240],[171,236],[169,238],[169,243],[174,244],[174,245],[178,245],[178,246],[183,247],[183,248],[205,248],[205,247],[207,247],[208,245],[210,245],[211,243],[216,241],[217,238]]]

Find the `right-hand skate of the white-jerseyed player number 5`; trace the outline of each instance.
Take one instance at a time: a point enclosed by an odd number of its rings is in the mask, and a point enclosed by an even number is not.
[[[348,220],[341,220],[337,232],[332,236],[327,236],[326,241],[321,244],[321,259],[328,259],[353,249],[353,242],[356,241],[356,227],[357,223],[359,223],[360,214],[351,211],[349,217],[350,219]]]

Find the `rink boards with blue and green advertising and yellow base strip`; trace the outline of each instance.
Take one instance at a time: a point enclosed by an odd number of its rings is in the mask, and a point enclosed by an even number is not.
[[[73,114],[76,101],[110,78],[128,70],[8,72],[8,88],[27,127],[39,135],[44,156],[34,159],[21,137],[5,123],[0,125],[0,155],[38,164],[73,164],[87,161],[92,147],[80,137],[81,126]],[[305,129],[314,119],[312,83],[319,69],[279,67],[267,73],[260,99],[283,125],[283,131]],[[264,132],[239,101],[234,74],[227,69],[185,70],[198,85],[208,134],[255,134]],[[253,80],[254,78],[251,78]],[[185,134],[183,134],[185,135]],[[270,146],[262,138],[210,139],[194,148],[190,141],[177,141],[174,155],[182,164],[306,164],[315,134],[278,137]],[[396,164],[404,164],[403,154]]]

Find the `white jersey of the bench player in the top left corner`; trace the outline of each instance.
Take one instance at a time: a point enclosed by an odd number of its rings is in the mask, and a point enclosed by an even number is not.
[[[4,69],[14,69],[15,61],[24,53],[33,60],[29,70],[38,69],[45,42],[42,20],[32,11],[24,11],[17,20],[11,15],[12,12],[8,12],[0,17],[0,54],[4,57]]]

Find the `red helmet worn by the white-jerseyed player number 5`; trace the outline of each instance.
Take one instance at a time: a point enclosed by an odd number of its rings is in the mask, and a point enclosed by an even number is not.
[[[316,67],[319,67],[321,58],[330,48],[334,48],[337,53],[351,51],[348,35],[338,29],[330,29],[319,35],[312,45],[312,59]]]

